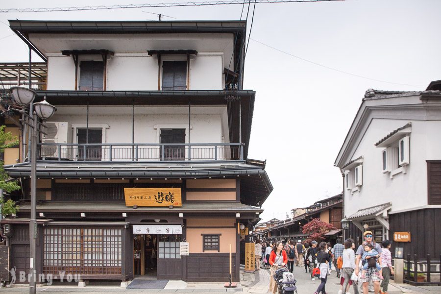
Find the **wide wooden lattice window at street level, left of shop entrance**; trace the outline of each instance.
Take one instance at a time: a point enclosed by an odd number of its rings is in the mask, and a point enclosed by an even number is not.
[[[44,273],[122,274],[122,229],[45,228]]]

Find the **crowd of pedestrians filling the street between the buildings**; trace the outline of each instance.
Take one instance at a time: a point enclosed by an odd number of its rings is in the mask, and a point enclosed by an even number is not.
[[[286,244],[282,242],[255,242],[256,267],[270,270],[270,277],[278,267],[287,267],[290,272],[296,267],[304,267],[305,273],[312,281],[320,279],[319,287],[314,294],[326,294],[327,277],[331,274],[332,265],[341,281],[339,294],[350,294],[352,286],[354,294],[368,294],[369,284],[373,285],[375,294],[387,294],[392,268],[392,255],[389,248],[391,242],[384,240],[380,244],[374,242],[372,232],[363,233],[364,242],[357,251],[352,239],[336,244],[317,241],[294,240]],[[319,270],[317,270],[319,269]],[[277,284],[270,278],[270,293],[277,293]]]

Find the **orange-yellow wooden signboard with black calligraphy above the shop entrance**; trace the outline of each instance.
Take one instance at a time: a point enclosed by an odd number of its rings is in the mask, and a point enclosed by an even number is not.
[[[125,206],[182,206],[181,188],[124,188]]]

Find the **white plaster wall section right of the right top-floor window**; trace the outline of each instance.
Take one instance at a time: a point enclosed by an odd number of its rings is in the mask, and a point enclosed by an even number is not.
[[[222,56],[201,56],[190,61],[191,90],[222,89]]]

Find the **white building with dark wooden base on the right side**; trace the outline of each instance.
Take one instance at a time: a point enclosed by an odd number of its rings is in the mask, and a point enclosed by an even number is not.
[[[369,89],[335,161],[344,175],[345,238],[360,244],[367,227],[377,242],[418,258],[441,253],[441,81],[426,91]],[[394,254],[392,247],[392,255]]]

